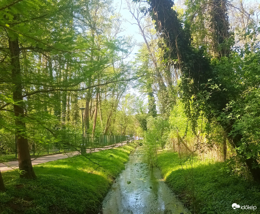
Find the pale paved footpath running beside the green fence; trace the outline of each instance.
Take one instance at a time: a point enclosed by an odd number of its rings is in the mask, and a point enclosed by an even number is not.
[[[123,145],[126,145],[126,142],[123,142]],[[114,148],[119,147],[119,146],[121,146],[121,143],[115,144]],[[106,146],[104,148],[96,148],[95,151],[93,151],[93,149],[92,149],[91,152],[99,152],[101,150],[110,149],[110,148],[111,148],[111,145]],[[87,153],[90,153],[89,149],[87,149]],[[49,156],[38,157],[35,160],[34,160],[34,158],[32,158],[31,164],[36,165],[36,164],[41,164],[41,163],[45,163],[45,162],[49,162],[49,161],[56,161],[58,159],[68,158],[68,156],[72,157],[72,156],[75,156],[75,155],[78,155],[78,154],[79,154],[79,152],[69,152],[67,154],[57,154],[57,155],[49,155]],[[19,168],[18,167],[18,161],[10,161],[10,162],[7,162],[5,164],[0,163],[1,172],[7,171],[7,170],[12,170],[12,168],[13,169]]]

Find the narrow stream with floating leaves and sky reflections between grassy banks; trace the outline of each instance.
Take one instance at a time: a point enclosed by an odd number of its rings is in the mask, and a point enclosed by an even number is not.
[[[149,167],[142,149],[129,156],[125,170],[116,179],[100,214],[190,213],[164,183],[160,171]]]

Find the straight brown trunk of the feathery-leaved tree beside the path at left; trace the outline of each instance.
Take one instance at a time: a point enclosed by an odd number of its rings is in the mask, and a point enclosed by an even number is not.
[[[19,41],[15,39],[11,41],[9,38],[9,50],[12,66],[12,82],[14,84],[13,99],[14,99],[14,116],[17,135],[17,150],[19,169],[24,170],[20,174],[20,178],[36,178],[31,165],[31,157],[28,145],[28,139],[23,135],[26,133],[26,124],[22,120],[24,118],[23,94],[22,94],[22,77],[20,69],[20,49]]]

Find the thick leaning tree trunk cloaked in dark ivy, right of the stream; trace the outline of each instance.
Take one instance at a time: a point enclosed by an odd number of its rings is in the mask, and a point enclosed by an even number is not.
[[[233,142],[234,147],[240,148],[241,141],[244,139],[243,135],[241,130],[237,129],[236,118],[228,116],[234,108],[229,104],[235,98],[236,86],[233,85],[234,88],[228,85],[223,86],[223,82],[220,82],[221,78],[217,75],[219,70],[210,64],[204,49],[192,48],[187,26],[183,28],[176,11],[171,10],[172,1],[152,0],[149,4],[151,7],[147,11],[150,11],[156,21],[156,30],[163,33],[167,47],[171,51],[171,58],[178,60],[177,65],[182,70],[183,99],[186,101],[187,109],[190,103],[195,104],[192,108],[195,109],[195,117],[197,117],[202,110],[198,106],[203,106],[207,118],[209,120],[212,117],[218,118],[220,124],[229,133],[229,141]],[[199,105],[202,102],[206,105]],[[245,149],[237,154],[245,160],[254,180],[260,182],[260,168],[256,156],[248,155],[250,142],[244,143],[243,146]]]

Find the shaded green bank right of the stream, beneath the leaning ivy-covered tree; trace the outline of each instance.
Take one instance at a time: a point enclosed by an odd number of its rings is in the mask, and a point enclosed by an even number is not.
[[[201,161],[197,157],[181,161],[178,153],[163,151],[158,155],[158,166],[167,184],[192,212],[260,213],[260,185],[223,170],[224,162]],[[257,209],[234,210],[233,203]]]

